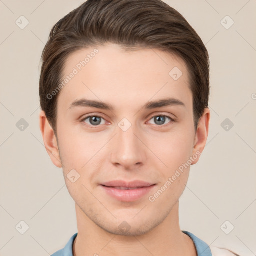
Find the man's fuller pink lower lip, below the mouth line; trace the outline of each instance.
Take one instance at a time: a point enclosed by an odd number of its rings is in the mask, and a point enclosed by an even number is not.
[[[155,185],[147,186],[147,187],[141,187],[141,188],[136,188],[136,189],[126,189],[126,190],[121,190],[121,189],[116,189],[114,187],[108,187],[108,186],[103,186],[101,187],[104,188],[106,193],[114,198],[116,198],[119,201],[124,201],[124,202],[131,202],[131,201],[136,201],[146,195]]]

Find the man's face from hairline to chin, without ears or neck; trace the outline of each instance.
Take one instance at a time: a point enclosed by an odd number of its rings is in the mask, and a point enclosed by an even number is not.
[[[65,182],[84,217],[110,233],[139,235],[169,215],[199,157],[188,71],[157,49],[95,48],[86,65],[80,61],[94,47],[70,55],[63,69],[64,77],[75,73],[57,102]]]

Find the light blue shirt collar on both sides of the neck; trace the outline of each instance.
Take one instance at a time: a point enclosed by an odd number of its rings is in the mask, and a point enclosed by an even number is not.
[[[198,256],[212,256],[210,247],[201,239],[196,237],[194,234],[188,232],[188,231],[182,231],[183,233],[187,234],[192,241],[194,242],[195,249],[197,252]],[[65,247],[63,249],[60,249],[56,251],[54,254],[51,256],[73,256],[73,242],[75,237],[77,236],[78,233],[75,233],[67,242]]]

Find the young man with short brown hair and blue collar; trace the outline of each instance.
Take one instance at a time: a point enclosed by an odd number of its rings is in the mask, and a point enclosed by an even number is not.
[[[39,92],[45,148],[77,217],[54,256],[212,255],[179,227],[210,118],[208,53],[180,13],[160,0],[86,1],[52,28]]]

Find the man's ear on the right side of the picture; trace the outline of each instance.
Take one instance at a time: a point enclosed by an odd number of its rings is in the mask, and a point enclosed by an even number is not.
[[[209,131],[209,120],[210,120],[210,110],[209,108],[204,108],[204,112],[198,122],[197,130],[194,138],[194,146],[192,150],[192,164],[195,164],[199,160],[206,141]],[[194,156],[194,157],[193,157]],[[192,165],[191,164],[191,165]]]

